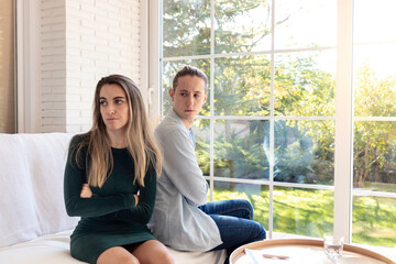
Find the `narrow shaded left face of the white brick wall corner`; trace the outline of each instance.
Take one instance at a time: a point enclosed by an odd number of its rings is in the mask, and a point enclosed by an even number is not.
[[[66,10],[64,1],[41,1],[42,130],[66,128]]]

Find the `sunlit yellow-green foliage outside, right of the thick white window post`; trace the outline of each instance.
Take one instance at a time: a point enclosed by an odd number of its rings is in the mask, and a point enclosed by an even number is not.
[[[370,65],[365,64],[358,72],[355,87],[355,116],[396,116],[396,76],[378,79]],[[396,183],[395,170],[386,169],[395,167],[396,164],[395,157],[392,158],[396,146],[396,124],[386,121],[355,122],[353,140],[354,187],[365,187],[367,179]],[[381,172],[386,176],[391,174],[391,177],[382,177]]]

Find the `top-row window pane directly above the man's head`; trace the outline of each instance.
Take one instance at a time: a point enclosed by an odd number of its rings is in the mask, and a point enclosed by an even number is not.
[[[163,1],[164,57],[210,54],[210,1]]]

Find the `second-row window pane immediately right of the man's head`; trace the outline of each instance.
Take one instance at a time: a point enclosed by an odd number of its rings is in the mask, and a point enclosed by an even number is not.
[[[266,55],[216,59],[215,114],[267,116],[271,66]]]

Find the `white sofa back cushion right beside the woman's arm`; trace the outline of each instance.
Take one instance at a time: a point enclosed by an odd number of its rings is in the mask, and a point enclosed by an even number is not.
[[[57,233],[76,227],[79,218],[66,213],[64,170],[72,133],[23,134],[23,148],[29,162],[31,187],[40,235]]]

